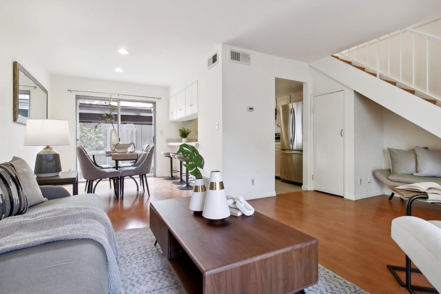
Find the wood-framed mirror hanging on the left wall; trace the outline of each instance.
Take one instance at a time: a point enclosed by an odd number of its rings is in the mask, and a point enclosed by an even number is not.
[[[48,90],[14,61],[14,121],[26,124],[29,118],[48,118]]]

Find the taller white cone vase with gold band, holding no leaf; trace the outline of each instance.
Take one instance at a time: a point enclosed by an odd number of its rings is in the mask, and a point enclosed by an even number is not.
[[[230,216],[227,195],[220,171],[212,171],[202,216],[210,222],[223,222]]]

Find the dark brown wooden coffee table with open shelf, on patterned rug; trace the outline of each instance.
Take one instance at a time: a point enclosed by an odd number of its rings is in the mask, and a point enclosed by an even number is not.
[[[150,229],[188,294],[287,294],[318,282],[316,238],[257,211],[213,224],[189,204],[150,204]]]

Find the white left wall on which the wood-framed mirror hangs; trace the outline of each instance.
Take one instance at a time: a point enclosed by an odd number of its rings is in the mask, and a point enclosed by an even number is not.
[[[0,25],[6,27],[6,23]],[[0,30],[0,162],[11,160],[12,156],[19,156],[26,160],[34,169],[35,157],[43,147],[23,146],[25,124],[13,122],[13,62],[18,61],[31,75],[33,75],[46,89],[51,87],[50,75],[37,57],[29,49],[26,40],[14,35],[14,30]],[[49,101],[51,93],[49,91]],[[50,117],[49,117],[50,118]]]

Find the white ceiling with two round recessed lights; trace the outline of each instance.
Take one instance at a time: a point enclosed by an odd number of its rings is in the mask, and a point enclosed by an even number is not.
[[[217,44],[310,62],[440,14],[439,0],[1,0],[0,30],[51,73],[168,86]]]

